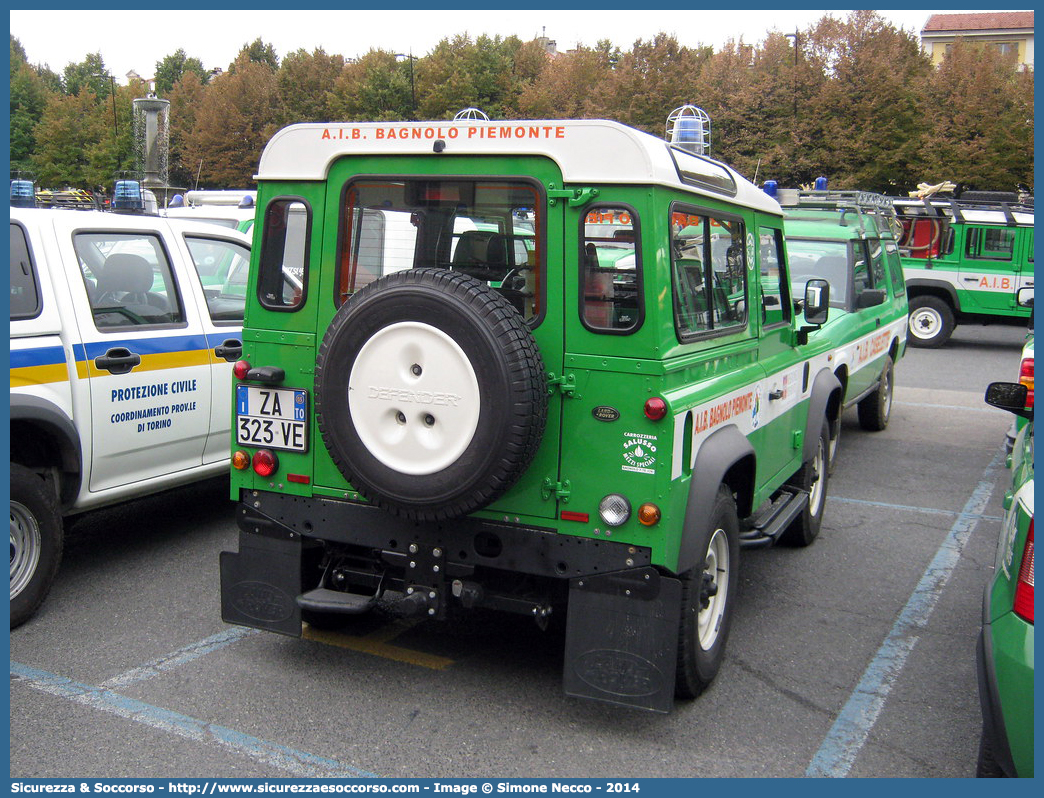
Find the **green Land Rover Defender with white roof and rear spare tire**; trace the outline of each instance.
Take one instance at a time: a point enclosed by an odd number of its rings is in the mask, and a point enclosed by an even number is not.
[[[468,120],[287,127],[258,211],[222,617],[564,618],[568,695],[701,693],[841,404],[779,205],[615,122]]]

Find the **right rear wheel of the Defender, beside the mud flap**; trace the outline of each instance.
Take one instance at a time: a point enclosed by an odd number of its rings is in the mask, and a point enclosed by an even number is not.
[[[697,549],[698,550],[698,549]],[[732,624],[739,565],[739,520],[728,486],[718,487],[701,564],[682,574],[674,695],[695,698],[717,675]]]

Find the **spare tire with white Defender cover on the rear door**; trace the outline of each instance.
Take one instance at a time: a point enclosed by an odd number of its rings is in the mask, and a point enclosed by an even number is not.
[[[532,462],[547,379],[529,328],[495,290],[442,268],[397,272],[334,315],[315,417],[340,473],[410,520],[485,507]]]

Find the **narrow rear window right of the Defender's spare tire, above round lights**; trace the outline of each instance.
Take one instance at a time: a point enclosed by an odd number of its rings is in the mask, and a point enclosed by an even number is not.
[[[580,235],[580,318],[588,329],[634,332],[641,323],[639,226],[630,208],[592,208]]]

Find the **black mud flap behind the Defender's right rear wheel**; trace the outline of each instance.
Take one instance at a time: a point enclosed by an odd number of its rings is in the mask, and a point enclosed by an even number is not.
[[[669,712],[682,583],[655,568],[570,580],[567,696]]]

